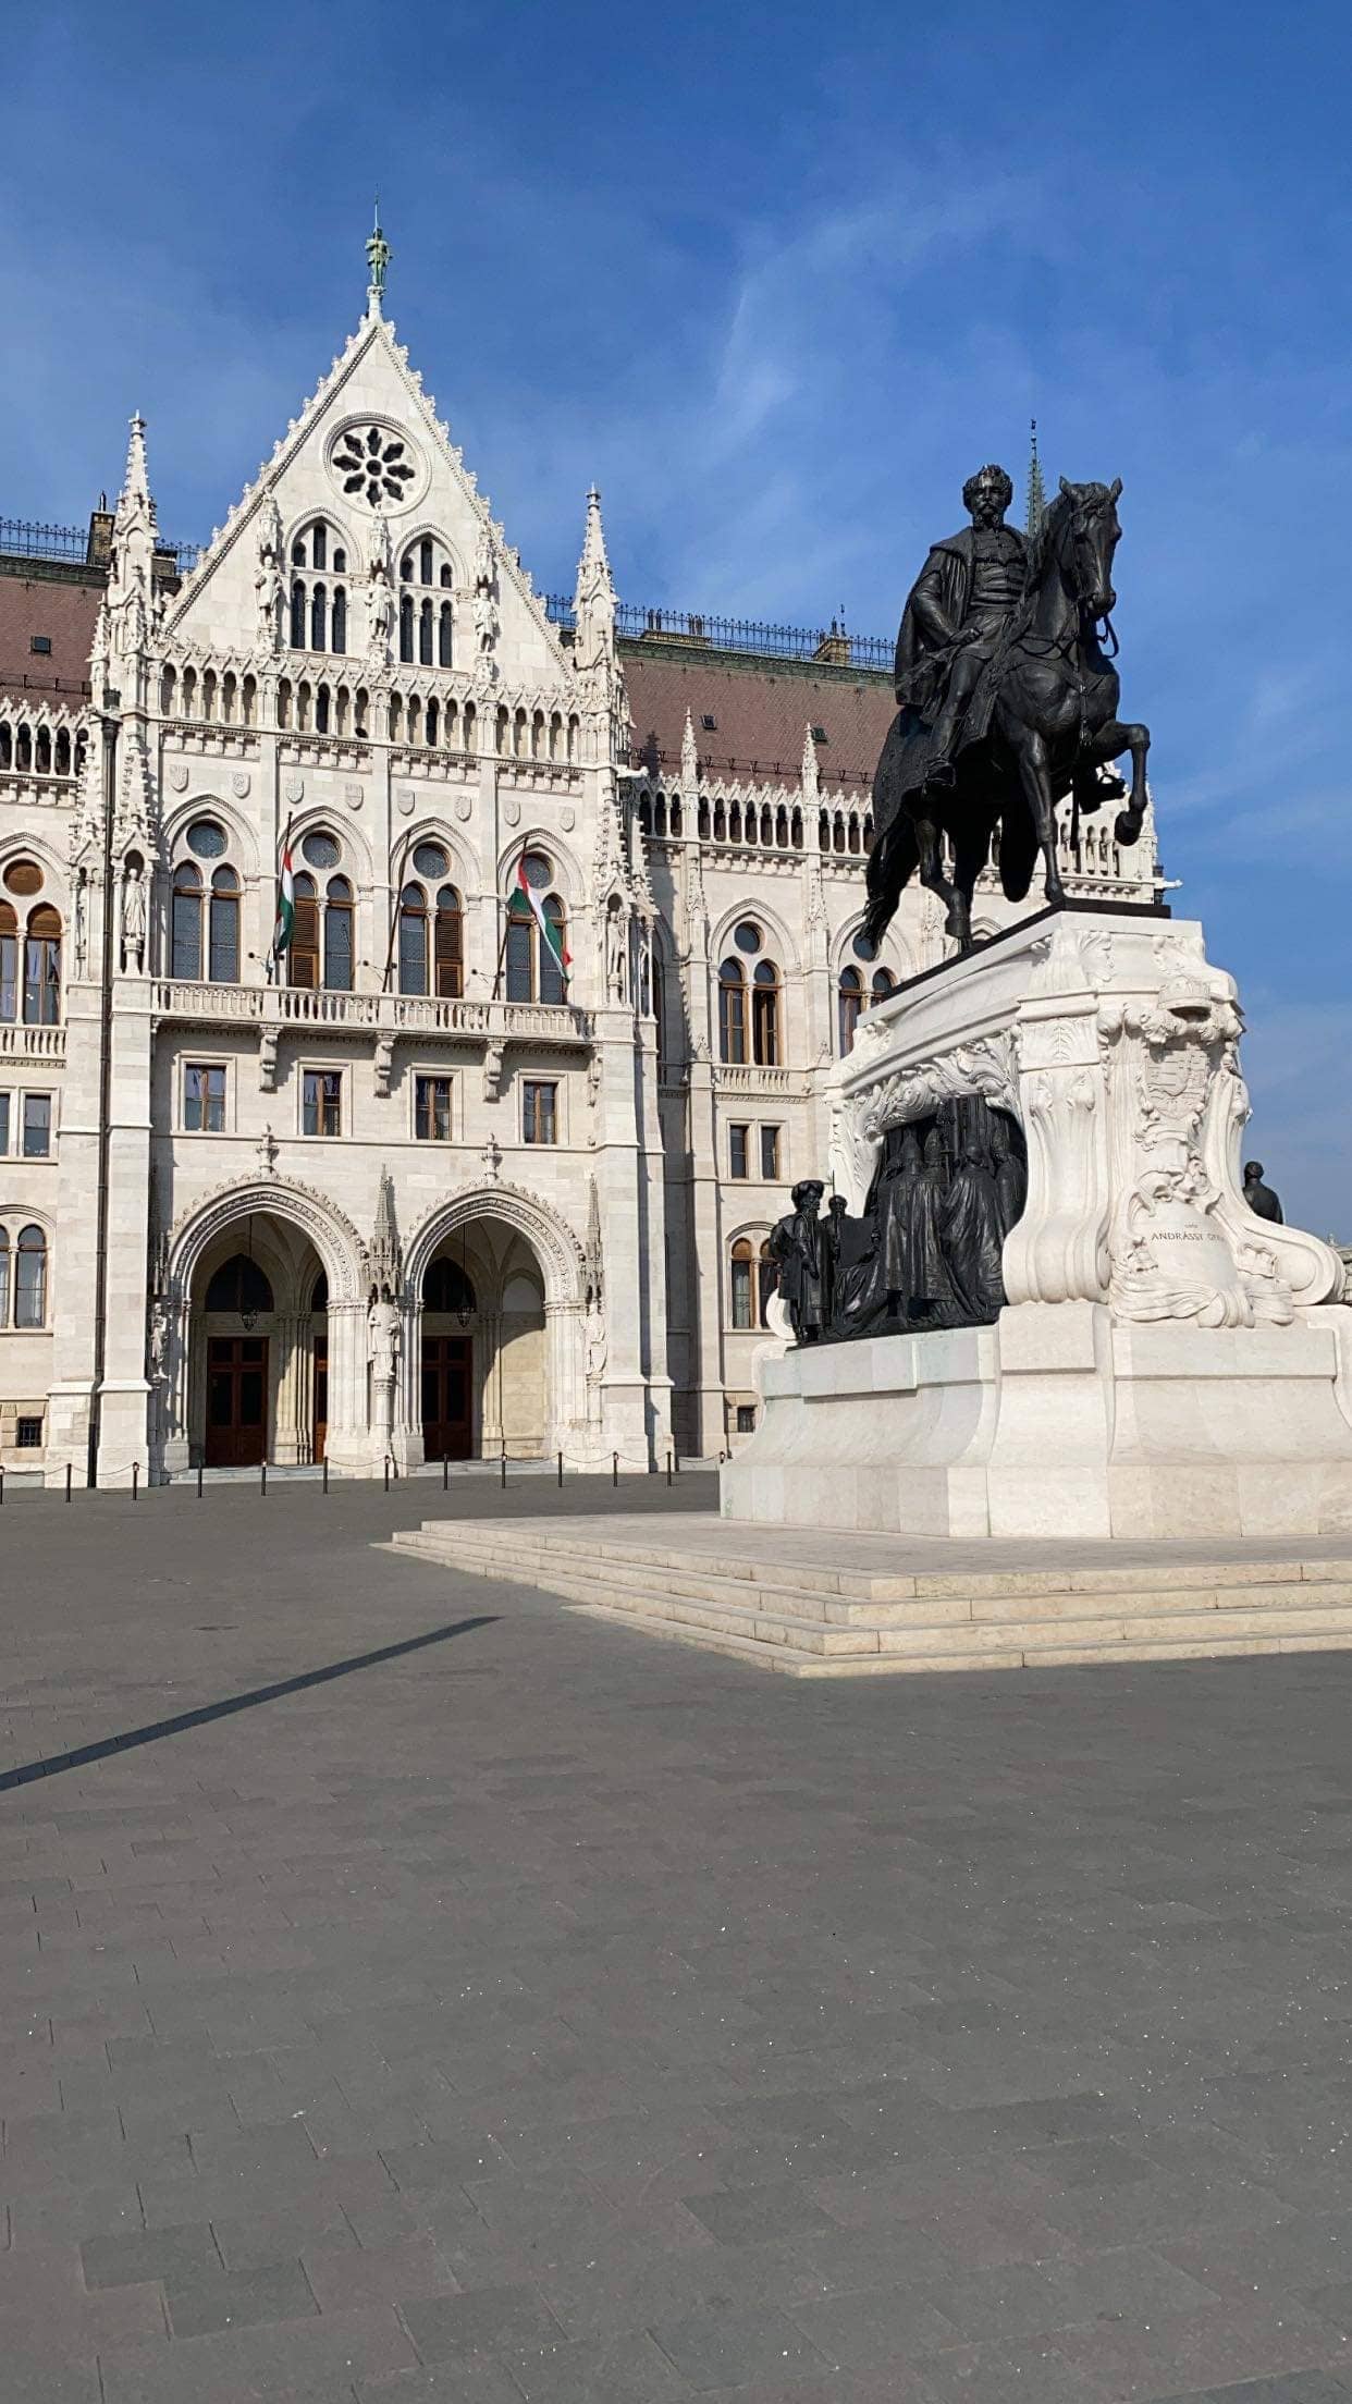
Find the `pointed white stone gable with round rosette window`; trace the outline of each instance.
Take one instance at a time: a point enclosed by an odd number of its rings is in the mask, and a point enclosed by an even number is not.
[[[363,474],[370,469],[370,474]],[[291,546],[313,519],[330,526],[327,558],[342,553],[349,587],[346,654],[366,656],[366,575],[390,529],[395,587],[399,565],[423,536],[443,546],[452,587],[474,594],[486,536],[498,563],[498,668],[505,688],[563,685],[570,664],[520,555],[505,546],[488,500],[476,490],[447,426],[438,418],[395,329],[370,310],[320,380],[298,418],[274,445],[168,611],[164,642],[250,654],[260,647],[260,541],[279,519],[281,575]],[[330,567],[332,572],[332,567]],[[414,570],[416,575],[416,570]],[[469,644],[462,642],[457,666]]]

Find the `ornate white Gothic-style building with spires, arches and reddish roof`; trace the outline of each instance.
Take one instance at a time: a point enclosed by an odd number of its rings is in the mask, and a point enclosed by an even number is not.
[[[861,938],[890,644],[623,606],[597,493],[536,591],[385,260],[200,553],[140,416],[0,522],[10,1476],[734,1450],[828,1072],[945,957]],[[1068,887],[1155,902],[1111,815]]]

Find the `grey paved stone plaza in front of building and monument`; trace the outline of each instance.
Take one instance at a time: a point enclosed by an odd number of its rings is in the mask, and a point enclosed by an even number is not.
[[[1352,2397],[1352,1659],[791,1683],[433,1510],[5,1500],[5,2404]]]

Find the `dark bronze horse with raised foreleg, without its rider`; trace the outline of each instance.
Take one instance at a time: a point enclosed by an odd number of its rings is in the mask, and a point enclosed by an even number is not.
[[[871,942],[880,942],[919,868],[921,885],[945,904],[948,933],[969,952],[972,892],[991,858],[996,825],[1006,899],[1022,902],[1042,851],[1044,894],[1061,902],[1056,803],[1073,793],[1078,822],[1083,810],[1121,801],[1123,781],[1099,779],[1099,767],[1126,750],[1131,798],[1119,813],[1116,839],[1138,839],[1150,728],[1123,724],[1116,714],[1121,685],[1111,664],[1116,637],[1109,611],[1116,606],[1119,493],[1121,478],[1111,486],[1061,478],[1032,538],[1025,596],[1008,642],[986,671],[996,688],[991,731],[957,752],[948,786],[924,781],[931,745],[917,712],[902,709],[893,719],[873,776],[876,837],[864,914]],[[1102,647],[1099,625],[1114,644],[1111,654]],[[943,873],[943,837],[953,844],[953,882]]]

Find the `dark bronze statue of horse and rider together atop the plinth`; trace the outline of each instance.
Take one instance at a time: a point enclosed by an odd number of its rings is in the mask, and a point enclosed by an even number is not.
[[[962,488],[972,524],[933,546],[897,635],[897,716],[873,776],[871,942],[919,868],[948,911],[948,933],[969,952],[972,892],[996,829],[1006,897],[1022,902],[1042,853],[1042,889],[1061,902],[1056,805],[1071,798],[1078,834],[1083,813],[1123,801],[1121,776],[1102,774],[1121,752],[1131,752],[1131,798],[1116,841],[1138,839],[1150,731],[1116,714],[1109,611],[1119,493],[1121,478],[1061,478],[1025,541],[1003,522],[1013,486],[1001,466],[984,466]]]

